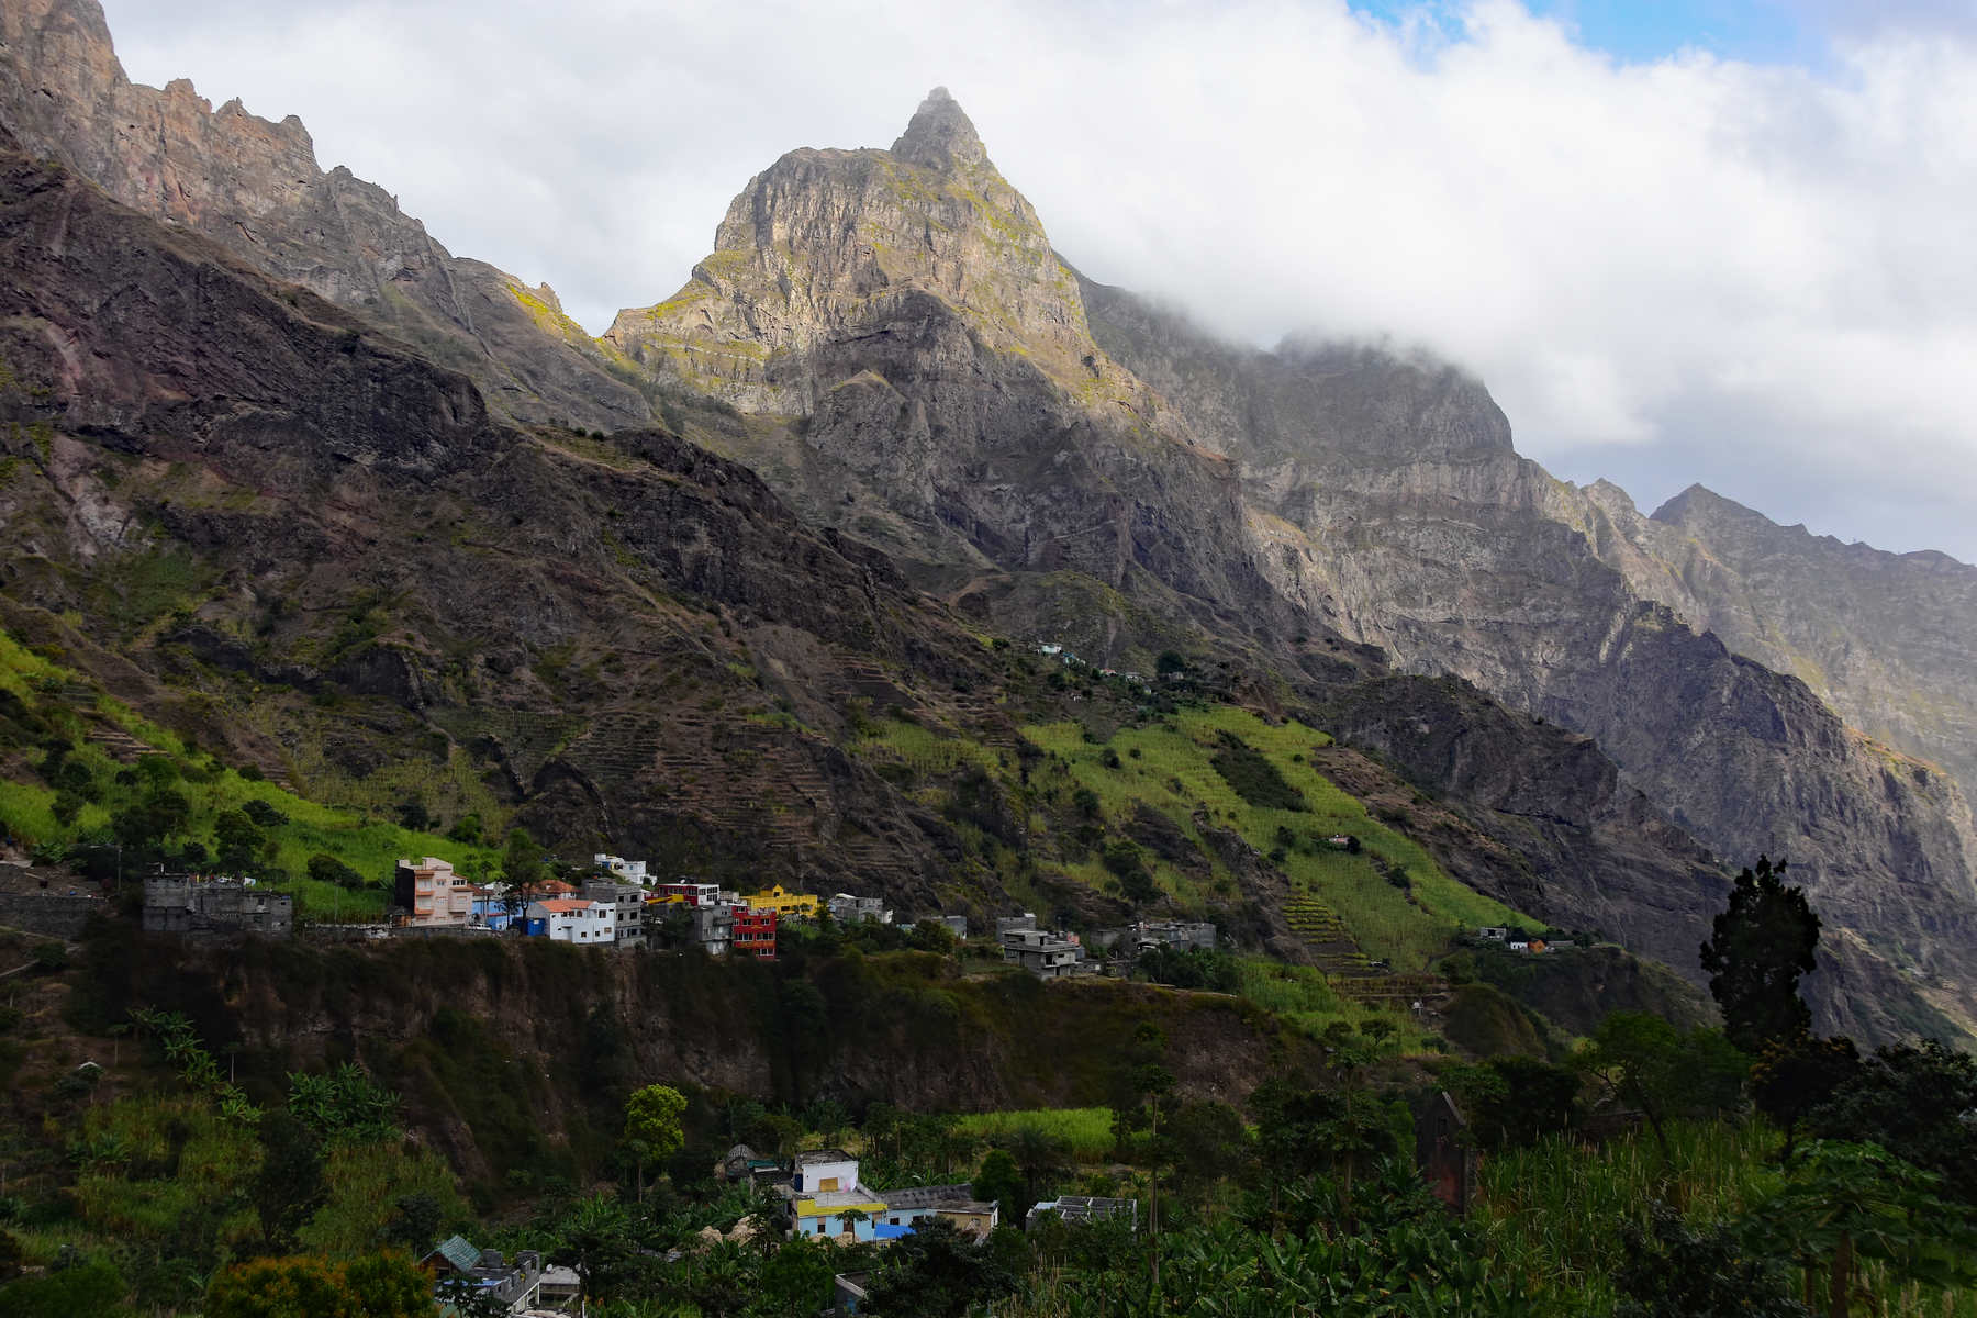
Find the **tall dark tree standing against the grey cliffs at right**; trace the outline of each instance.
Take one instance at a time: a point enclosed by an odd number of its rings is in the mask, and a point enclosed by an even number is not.
[[[1716,917],[1702,945],[1710,994],[1724,1014],[1724,1033],[1758,1053],[1775,1039],[1811,1030],[1813,1014],[1799,998],[1799,976],[1813,968],[1819,917],[1805,889],[1785,887],[1785,862],[1760,856],[1756,869],[1736,875],[1730,909]]]

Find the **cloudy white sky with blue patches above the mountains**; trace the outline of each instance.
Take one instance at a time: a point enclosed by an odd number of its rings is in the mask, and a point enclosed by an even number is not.
[[[1977,561],[1977,0],[103,0],[132,79],[603,332],[933,85],[1085,275],[1475,371],[1516,447]]]

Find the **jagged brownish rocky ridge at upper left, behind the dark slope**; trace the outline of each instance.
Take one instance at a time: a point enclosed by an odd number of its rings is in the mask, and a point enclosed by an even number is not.
[[[125,77],[97,0],[0,8],[0,124],[132,209],[200,233],[471,375],[504,415],[621,427],[646,399],[546,285],[447,253],[397,200],[320,170],[302,121]]]

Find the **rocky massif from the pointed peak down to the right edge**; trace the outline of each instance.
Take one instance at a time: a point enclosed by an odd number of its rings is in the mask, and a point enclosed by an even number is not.
[[[945,91],[890,152],[793,152],[751,180],[694,281],[611,338],[781,427],[737,456],[811,516],[876,504],[945,528],[915,555],[1178,595],[1313,698],[1350,670],[1289,668],[1287,632],[1591,735],[1651,812],[1720,856],[1801,858],[1850,954],[1973,1018],[1977,836],[1953,783],[1637,591],[1475,379],[1362,346],[1232,350],[1072,279]],[[1131,508],[1068,496],[1099,484]],[[1036,553],[1077,539],[1101,545]],[[1635,937],[1692,970],[1694,925],[1649,923]]]

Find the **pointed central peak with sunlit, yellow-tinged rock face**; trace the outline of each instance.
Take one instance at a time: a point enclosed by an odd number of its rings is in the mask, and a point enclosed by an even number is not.
[[[694,279],[607,340],[747,411],[733,456],[890,549],[1297,630],[1234,466],[1091,340],[1075,277],[941,89],[892,150],[755,176]]]

